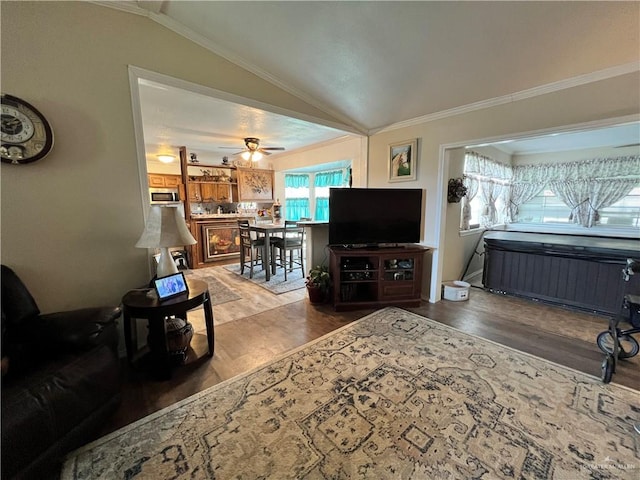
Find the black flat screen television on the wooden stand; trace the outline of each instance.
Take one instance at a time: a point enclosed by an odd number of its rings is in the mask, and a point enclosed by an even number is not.
[[[332,188],[329,244],[349,247],[418,243],[420,188]]]

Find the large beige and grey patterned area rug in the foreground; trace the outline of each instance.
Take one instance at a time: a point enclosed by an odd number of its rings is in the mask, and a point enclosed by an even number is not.
[[[72,453],[62,479],[637,479],[639,392],[387,308]]]

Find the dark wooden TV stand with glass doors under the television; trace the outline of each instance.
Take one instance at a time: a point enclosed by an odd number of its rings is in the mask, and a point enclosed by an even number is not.
[[[420,306],[422,263],[428,248],[330,247],[335,310]]]

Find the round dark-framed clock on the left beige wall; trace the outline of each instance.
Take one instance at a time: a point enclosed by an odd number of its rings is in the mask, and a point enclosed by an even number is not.
[[[35,107],[17,97],[2,94],[0,156],[20,165],[44,158],[53,147],[53,131]]]

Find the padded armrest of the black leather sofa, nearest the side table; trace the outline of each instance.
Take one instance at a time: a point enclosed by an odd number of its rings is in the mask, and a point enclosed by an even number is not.
[[[87,350],[111,343],[115,327],[110,325],[120,313],[119,307],[92,307],[40,315],[41,344],[49,350]]]

